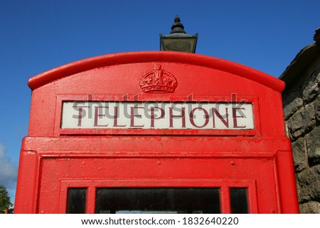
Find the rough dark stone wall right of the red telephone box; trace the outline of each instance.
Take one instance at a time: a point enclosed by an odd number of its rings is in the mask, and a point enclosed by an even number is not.
[[[301,213],[320,213],[319,53],[316,43],[307,46],[280,77],[287,83],[282,94],[284,119],[292,141]]]

